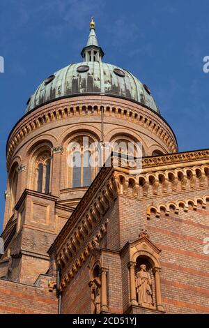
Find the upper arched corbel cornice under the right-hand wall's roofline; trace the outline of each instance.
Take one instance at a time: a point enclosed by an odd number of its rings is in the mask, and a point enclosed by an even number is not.
[[[163,156],[162,156],[163,157]],[[157,170],[158,169],[158,170]],[[175,169],[162,170],[156,167],[155,172],[144,172],[142,167],[141,173],[136,176],[130,175],[127,170],[117,170],[114,173],[118,193],[127,195],[127,189],[131,188],[132,196],[140,199],[150,195],[164,195],[176,192],[180,184],[181,191],[188,191],[196,188],[208,187],[209,184],[209,163],[203,165],[194,165],[178,167]],[[161,187],[161,188],[160,188]]]

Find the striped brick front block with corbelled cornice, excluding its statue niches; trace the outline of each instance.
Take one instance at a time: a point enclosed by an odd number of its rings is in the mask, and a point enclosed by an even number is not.
[[[180,158],[187,157],[187,154],[180,154]],[[156,177],[157,172],[166,174],[168,171],[176,170],[176,167],[179,167],[179,170],[185,169],[185,167],[187,170],[201,167],[207,172],[208,151],[205,154],[206,158],[200,159],[198,163],[197,161],[195,163],[193,161],[179,161],[179,163],[167,164],[164,167],[155,165],[151,170],[148,170],[144,165],[140,177],[143,177],[144,174],[153,174]],[[161,161],[161,158],[153,158],[154,161],[155,163]],[[88,204],[88,207],[92,208],[92,204],[95,204],[94,206],[99,208],[98,200],[100,195],[106,191],[107,180],[114,184],[115,195],[112,194],[111,196],[112,202],[109,201],[107,211],[100,209],[100,215],[95,218],[94,226],[86,237],[86,241],[82,242],[82,239],[77,236],[77,240],[81,242],[81,245],[77,247],[77,255],[70,257],[66,252],[63,253],[64,248],[70,249],[70,238],[77,230],[77,225],[71,225],[72,228],[70,228],[70,224],[67,223],[50,248],[49,253],[52,260],[55,256],[61,268],[62,313],[90,312],[91,288],[88,283],[91,281],[91,270],[94,262],[100,263],[101,269],[102,267],[107,269],[105,288],[107,288],[109,313],[162,312],[162,310],[157,311],[157,308],[136,306],[130,301],[130,271],[128,267],[131,257],[129,249],[133,243],[137,244],[141,229],[148,230],[151,243],[160,249],[163,312],[208,313],[209,264],[208,255],[203,252],[203,240],[208,237],[209,232],[208,177],[204,176],[204,179],[201,179],[199,175],[194,177],[192,188],[191,179],[188,177],[185,177],[184,185],[180,179],[177,184],[168,181],[166,189],[160,185],[153,188],[153,185],[149,184],[148,188],[143,187],[146,190],[145,197],[143,188],[140,189],[138,186],[136,193],[135,186],[131,184],[130,179],[139,181],[139,177],[130,175],[128,171],[125,172],[123,167],[111,167],[110,171],[111,175],[107,171],[103,173],[103,179],[102,172],[100,172],[101,174],[96,179],[103,181],[98,184],[100,187],[94,189],[93,184],[89,196],[87,193],[82,200],[84,204]],[[120,174],[123,174],[125,181],[127,181],[127,185],[123,181],[122,188],[118,183]],[[105,177],[108,179],[105,180]],[[94,181],[95,185],[96,180]],[[173,192],[174,186],[175,192]],[[95,190],[94,193],[93,190]],[[159,204],[162,207],[158,214],[154,208]],[[167,210],[164,204],[167,206]],[[151,211],[149,211],[150,205],[153,207]],[[88,207],[83,211],[84,207],[82,207],[81,202],[77,207],[77,212],[71,216],[72,223],[74,219],[75,223],[78,224],[88,218]],[[98,234],[98,227],[107,218],[107,231],[101,237]],[[92,242],[89,248],[88,243],[92,240],[93,234],[97,238],[99,246]],[[54,255],[55,249],[56,255]],[[144,256],[143,259],[145,259]],[[157,295],[154,297],[156,299]],[[82,303],[80,303],[81,299]],[[78,308],[78,306],[80,307]]]

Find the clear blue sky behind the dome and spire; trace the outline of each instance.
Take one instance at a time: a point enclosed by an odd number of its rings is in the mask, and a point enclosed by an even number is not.
[[[208,147],[208,0],[1,0],[0,225],[8,133],[42,80],[82,61],[91,15],[103,61],[130,70],[150,87],[179,150]]]

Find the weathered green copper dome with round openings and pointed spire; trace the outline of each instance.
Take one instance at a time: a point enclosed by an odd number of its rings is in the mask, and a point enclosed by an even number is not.
[[[61,97],[102,94],[134,100],[159,113],[145,84],[127,70],[102,62],[104,52],[98,45],[93,20],[90,26],[88,42],[82,50],[84,61],[47,77],[28,100],[26,112]]]

